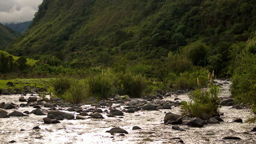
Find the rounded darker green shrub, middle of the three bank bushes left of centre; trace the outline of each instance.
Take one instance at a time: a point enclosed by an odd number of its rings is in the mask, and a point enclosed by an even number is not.
[[[109,76],[97,76],[88,79],[87,94],[97,100],[105,99],[114,94],[113,83]]]

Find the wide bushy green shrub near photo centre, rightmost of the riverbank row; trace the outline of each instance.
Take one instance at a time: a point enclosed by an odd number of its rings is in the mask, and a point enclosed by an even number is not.
[[[141,75],[133,76],[132,74],[118,74],[117,92],[121,95],[130,97],[141,97],[145,90],[145,80]]]

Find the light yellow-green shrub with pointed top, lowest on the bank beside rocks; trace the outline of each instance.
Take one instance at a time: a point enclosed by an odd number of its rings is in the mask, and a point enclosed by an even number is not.
[[[79,104],[86,100],[87,94],[85,85],[78,80],[73,80],[72,86],[65,92],[64,100],[70,103]]]

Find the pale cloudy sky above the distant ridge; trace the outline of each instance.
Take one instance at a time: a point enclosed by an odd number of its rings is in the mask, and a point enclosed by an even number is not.
[[[41,2],[43,0],[0,0],[0,23],[32,20]]]

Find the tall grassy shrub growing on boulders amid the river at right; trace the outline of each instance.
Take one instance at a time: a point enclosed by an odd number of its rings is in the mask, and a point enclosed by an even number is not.
[[[209,115],[216,114],[219,105],[218,95],[219,87],[213,84],[210,85],[209,91],[197,89],[190,95],[192,101],[183,102],[181,113],[183,115],[189,114],[192,117],[198,118],[202,118],[203,113]]]

